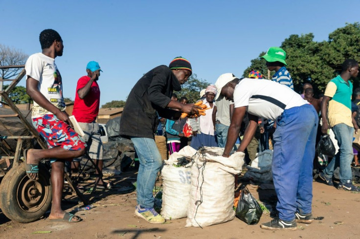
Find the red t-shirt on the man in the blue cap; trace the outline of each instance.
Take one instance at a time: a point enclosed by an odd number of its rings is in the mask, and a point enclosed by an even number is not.
[[[74,109],[72,115],[78,122],[91,123],[96,119],[100,106],[100,89],[96,80],[91,84],[89,93],[81,100],[77,91],[83,88],[90,80],[90,77],[83,76],[77,81]]]

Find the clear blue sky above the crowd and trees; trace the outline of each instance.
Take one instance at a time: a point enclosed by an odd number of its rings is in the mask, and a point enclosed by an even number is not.
[[[41,52],[40,32],[55,29],[65,45],[55,61],[64,97],[75,99],[77,80],[96,60],[105,104],[126,100],[144,73],[177,56],[209,83],[227,72],[242,76],[270,46],[292,34],[328,40],[359,21],[359,9],[359,0],[0,0],[0,43],[31,55]]]

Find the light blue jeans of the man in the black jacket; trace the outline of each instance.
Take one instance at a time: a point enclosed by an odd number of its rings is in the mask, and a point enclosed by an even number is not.
[[[137,172],[136,200],[141,207],[154,207],[153,189],[162,159],[154,139],[132,137],[140,166]]]

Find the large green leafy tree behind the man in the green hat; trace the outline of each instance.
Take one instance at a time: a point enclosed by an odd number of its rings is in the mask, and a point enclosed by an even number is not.
[[[314,41],[314,34],[291,35],[285,39],[281,48],[286,51],[288,70],[293,78],[294,90],[302,93],[302,85],[309,82],[313,85],[315,96],[325,91],[329,80],[341,71],[341,64],[346,59],[360,61],[360,24],[346,23],[342,28],[329,34],[327,41]],[[258,58],[251,60],[244,71],[244,77],[251,70],[260,71],[267,76],[266,61]],[[275,72],[271,72],[270,78]],[[359,77],[354,79],[354,88],[359,86]]]

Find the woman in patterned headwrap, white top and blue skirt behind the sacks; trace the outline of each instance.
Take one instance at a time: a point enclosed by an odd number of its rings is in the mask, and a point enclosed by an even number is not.
[[[206,87],[203,104],[211,107],[205,111],[206,115],[200,116],[196,119],[190,119],[190,126],[193,129],[193,137],[190,146],[198,149],[203,146],[217,147],[218,143],[215,137],[214,122],[212,120],[212,111],[214,107],[214,99],[216,96],[216,86],[209,85]]]

